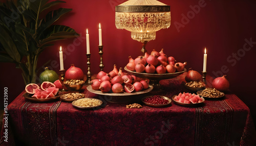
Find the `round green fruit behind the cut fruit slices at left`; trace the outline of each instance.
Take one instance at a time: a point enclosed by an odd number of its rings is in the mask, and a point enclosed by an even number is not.
[[[49,70],[48,67],[45,68],[45,71],[42,72],[39,76],[40,83],[48,81],[54,83],[59,79],[58,74],[54,70]]]

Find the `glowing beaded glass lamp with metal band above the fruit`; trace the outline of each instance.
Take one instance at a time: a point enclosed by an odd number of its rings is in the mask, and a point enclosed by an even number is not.
[[[116,6],[117,29],[131,32],[134,40],[143,43],[156,39],[156,32],[170,26],[170,6],[156,0],[130,0]]]

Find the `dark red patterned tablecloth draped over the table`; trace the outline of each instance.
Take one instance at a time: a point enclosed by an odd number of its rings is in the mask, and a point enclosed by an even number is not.
[[[172,98],[179,92],[188,92],[183,85],[184,76],[162,80],[164,90],[148,94]],[[126,109],[126,104],[106,102],[110,96],[99,96],[86,89],[83,92],[87,98],[101,99],[103,105],[77,109],[59,100],[36,103],[26,100],[23,91],[8,106],[8,142],[4,141],[3,127],[1,144],[255,145],[249,108],[231,92],[221,100],[206,100],[201,107],[172,102],[163,108],[143,105],[140,109]]]

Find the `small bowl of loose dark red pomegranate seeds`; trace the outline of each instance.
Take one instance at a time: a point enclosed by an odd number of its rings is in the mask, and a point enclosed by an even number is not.
[[[142,98],[141,101],[145,105],[152,106],[152,107],[164,107],[169,105],[170,102],[172,102],[172,100],[170,100],[166,96],[161,96],[161,95],[146,96]]]

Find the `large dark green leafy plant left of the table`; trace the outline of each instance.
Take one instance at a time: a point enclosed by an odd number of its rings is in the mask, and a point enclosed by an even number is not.
[[[37,60],[56,40],[78,36],[74,29],[53,25],[72,9],[53,6],[63,1],[33,0],[0,2],[0,61],[22,69],[25,84],[36,82]]]

